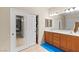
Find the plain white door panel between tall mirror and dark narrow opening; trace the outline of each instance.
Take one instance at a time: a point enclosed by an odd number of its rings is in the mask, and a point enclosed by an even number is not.
[[[36,15],[27,15],[26,45],[30,47],[36,44]]]

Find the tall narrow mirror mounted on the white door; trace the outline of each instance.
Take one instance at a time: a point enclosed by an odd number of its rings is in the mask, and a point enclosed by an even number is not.
[[[16,47],[24,45],[24,17],[16,15]]]

